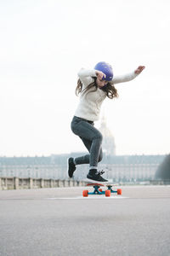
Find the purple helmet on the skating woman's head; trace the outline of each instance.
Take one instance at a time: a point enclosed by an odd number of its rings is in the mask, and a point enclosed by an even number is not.
[[[102,80],[111,81],[113,79],[113,70],[109,63],[106,63],[105,61],[100,61],[96,64],[94,69],[105,73],[105,78],[103,77]]]

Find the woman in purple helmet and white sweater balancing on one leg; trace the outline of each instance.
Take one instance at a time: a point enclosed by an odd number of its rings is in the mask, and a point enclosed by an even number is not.
[[[106,182],[98,172],[98,162],[102,160],[102,134],[94,127],[94,121],[99,119],[102,102],[106,96],[118,97],[114,84],[123,83],[136,78],[144,70],[139,66],[133,73],[114,77],[110,64],[101,61],[93,70],[81,69],[78,73],[76,94],[80,94],[80,102],[71,121],[71,130],[82,139],[89,154],[68,159],[68,176],[73,177],[77,165],[89,164],[88,178]]]

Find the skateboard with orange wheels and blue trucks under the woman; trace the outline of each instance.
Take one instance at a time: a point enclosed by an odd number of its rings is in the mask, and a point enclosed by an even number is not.
[[[93,192],[88,192],[88,190],[82,191],[83,197],[88,197],[88,195],[105,195],[111,196],[111,193],[116,193],[117,195],[122,195],[122,189],[112,189],[116,184],[102,184],[102,183],[88,183],[87,187],[94,187]],[[105,187],[106,189],[100,189],[100,187]]]

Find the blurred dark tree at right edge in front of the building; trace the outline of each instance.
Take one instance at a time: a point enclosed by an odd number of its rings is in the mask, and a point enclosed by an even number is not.
[[[156,170],[156,178],[170,179],[170,154],[162,161],[161,165]]]

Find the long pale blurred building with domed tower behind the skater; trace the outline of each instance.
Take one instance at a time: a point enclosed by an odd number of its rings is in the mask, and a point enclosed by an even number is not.
[[[105,116],[101,119],[99,131],[103,134],[102,148],[104,158],[99,162],[99,169],[111,182],[137,182],[153,180],[156,170],[166,155],[116,155],[116,143],[107,128]],[[0,157],[0,177],[33,177],[68,179],[67,159],[87,152],[71,154],[52,154],[35,157]],[[86,178],[88,165],[77,166],[75,179]]]

